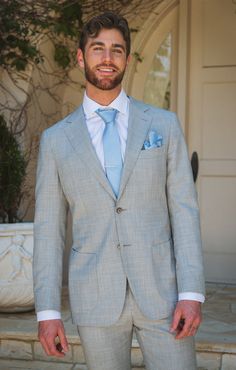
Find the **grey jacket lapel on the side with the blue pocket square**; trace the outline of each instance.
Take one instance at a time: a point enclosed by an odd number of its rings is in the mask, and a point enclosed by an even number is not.
[[[118,199],[129,180],[151,125],[152,119],[145,113],[146,110],[147,108],[142,109],[142,105],[130,98],[128,137]]]

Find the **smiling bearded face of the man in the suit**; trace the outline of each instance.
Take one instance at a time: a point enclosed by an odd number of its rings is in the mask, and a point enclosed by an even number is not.
[[[102,29],[97,37],[88,38],[84,54],[78,50],[78,62],[92,86],[101,90],[120,86],[129,62],[122,34],[117,29]]]

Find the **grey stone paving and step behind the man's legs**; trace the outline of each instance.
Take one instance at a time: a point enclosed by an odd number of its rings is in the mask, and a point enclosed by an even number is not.
[[[76,328],[71,323],[67,290],[62,316],[70,352],[65,361],[47,358],[37,339],[34,312],[0,314],[0,370],[85,370]],[[196,337],[199,370],[236,370],[236,286],[207,284],[203,324]],[[142,355],[133,340],[133,369],[143,369]],[[111,369],[112,370],[112,369]],[[168,370],[168,369],[167,369]],[[183,369],[188,370],[188,369]]]

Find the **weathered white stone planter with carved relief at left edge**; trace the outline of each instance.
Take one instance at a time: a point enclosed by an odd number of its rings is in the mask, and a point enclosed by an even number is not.
[[[34,308],[33,223],[0,224],[0,311]]]

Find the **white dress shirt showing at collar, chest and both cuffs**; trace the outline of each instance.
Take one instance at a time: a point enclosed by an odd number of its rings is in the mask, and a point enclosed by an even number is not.
[[[129,119],[129,98],[127,97],[124,90],[121,90],[120,94],[117,96],[113,102],[111,102],[108,106],[102,106],[96,103],[94,100],[90,99],[87,94],[84,94],[83,99],[83,109],[86,119],[86,124],[88,128],[88,132],[94,146],[94,149],[97,153],[98,159],[101,162],[101,165],[104,169],[104,152],[103,152],[103,131],[105,128],[105,123],[101,119],[101,117],[95,113],[98,108],[115,108],[118,110],[116,115],[116,124],[118,133],[120,136],[120,143],[121,143],[121,155],[124,161],[125,157],[125,149],[126,149],[126,141],[127,141],[127,134],[128,134],[128,119]],[[194,292],[184,292],[179,293],[178,296],[179,300],[193,300],[198,302],[204,302],[205,297],[202,294],[194,293]],[[37,313],[37,320],[52,320],[52,319],[60,319],[61,314],[55,310],[45,310],[40,311]]]

